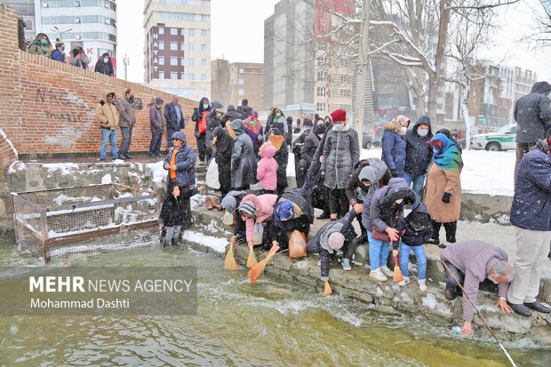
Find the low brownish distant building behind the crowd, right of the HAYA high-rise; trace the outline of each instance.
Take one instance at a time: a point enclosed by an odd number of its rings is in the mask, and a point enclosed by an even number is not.
[[[220,100],[225,108],[228,105],[241,105],[249,101],[255,111],[264,112],[264,64],[212,60],[212,100]]]

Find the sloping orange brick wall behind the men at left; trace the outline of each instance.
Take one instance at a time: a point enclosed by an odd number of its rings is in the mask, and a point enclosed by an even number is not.
[[[99,156],[100,124],[94,118],[95,107],[104,92],[116,92],[117,98],[124,98],[127,88],[137,101],[131,151],[148,151],[149,108],[156,97],[170,102],[170,94],[21,52],[17,12],[5,4],[0,4],[0,39],[0,129],[20,155]],[[180,98],[180,104],[188,143],[196,148],[190,116],[197,102]],[[117,138],[120,142],[120,131]]]

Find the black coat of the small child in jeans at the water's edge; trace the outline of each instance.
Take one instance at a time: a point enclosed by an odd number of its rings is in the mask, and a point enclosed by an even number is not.
[[[433,225],[430,222],[427,206],[419,203],[405,219],[398,224],[398,233],[402,234],[402,242],[408,246],[422,246],[433,235]],[[404,232],[405,231],[405,232]],[[397,250],[399,243],[393,243]]]

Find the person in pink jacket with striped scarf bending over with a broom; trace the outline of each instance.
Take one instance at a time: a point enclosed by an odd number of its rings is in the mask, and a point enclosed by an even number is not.
[[[272,218],[275,202],[277,202],[277,195],[274,194],[258,196],[249,194],[244,196],[239,204],[237,211],[239,211],[241,219],[245,222],[245,236],[249,247],[254,244],[252,243],[254,225],[267,222]]]

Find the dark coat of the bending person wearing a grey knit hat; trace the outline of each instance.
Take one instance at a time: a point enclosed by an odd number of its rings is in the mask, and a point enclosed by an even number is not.
[[[335,232],[340,232],[345,237],[345,245],[355,240],[356,233],[354,227],[352,227],[352,221],[355,219],[354,209],[350,209],[347,215],[339,220],[332,220],[329,223],[325,223],[321,228],[317,230],[314,238],[308,241],[306,245],[307,251],[319,252],[320,262],[322,267],[322,276],[329,276],[329,263],[331,261],[331,254],[334,252],[329,246],[329,235]]]

